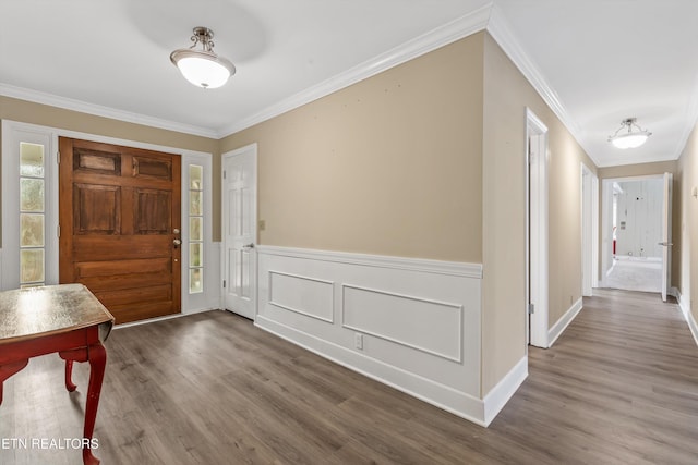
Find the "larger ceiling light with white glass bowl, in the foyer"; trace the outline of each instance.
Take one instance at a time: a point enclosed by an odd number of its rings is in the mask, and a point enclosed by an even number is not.
[[[220,87],[228,77],[236,74],[236,66],[225,58],[214,53],[214,32],[207,27],[194,27],[192,45],[170,53],[170,60],[182,76],[195,86],[206,89]],[[201,46],[201,50],[196,50]]]

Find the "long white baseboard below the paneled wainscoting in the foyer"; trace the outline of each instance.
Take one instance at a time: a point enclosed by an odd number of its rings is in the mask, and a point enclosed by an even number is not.
[[[254,325],[352,371],[387,384],[477,425],[486,426],[484,403],[480,399],[279,323],[263,315],[257,315]],[[382,375],[378,376],[376,374]],[[435,399],[438,399],[438,401],[435,401]]]

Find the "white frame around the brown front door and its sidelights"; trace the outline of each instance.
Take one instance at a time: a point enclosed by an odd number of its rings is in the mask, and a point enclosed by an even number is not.
[[[14,184],[19,185],[17,181],[12,181],[13,171],[12,171],[12,166],[9,163],[13,161],[12,160],[13,158],[16,158],[16,157],[11,157],[10,155],[15,154],[14,145],[21,142],[17,139],[17,136],[20,133],[32,133],[37,135],[37,137],[39,136],[44,137],[48,142],[48,146],[47,146],[48,151],[45,154],[46,168],[47,168],[46,175],[48,176],[48,178],[45,178],[47,182],[47,191],[46,191],[47,205],[46,205],[46,224],[45,224],[45,231],[46,231],[45,250],[46,250],[46,267],[47,267],[46,284],[58,284],[58,264],[59,264],[58,184],[59,184],[59,179],[58,179],[57,161],[58,161],[58,138],[59,137],[69,137],[69,138],[76,138],[76,139],[91,140],[91,142],[97,142],[97,143],[128,146],[133,148],[143,148],[146,150],[180,154],[182,157],[182,164],[181,164],[182,170],[184,170],[184,167],[190,164],[189,162],[190,159],[201,160],[202,158],[203,159],[213,158],[213,154],[210,152],[189,150],[189,149],[182,149],[178,147],[169,147],[169,146],[164,146],[158,144],[149,144],[149,143],[143,143],[137,140],[122,139],[117,137],[101,136],[101,135],[95,135],[89,133],[83,133],[79,131],[70,131],[70,130],[64,130],[60,127],[43,126],[38,124],[31,124],[31,123],[24,123],[19,121],[2,120],[1,163],[2,163],[2,181],[3,181],[2,186],[4,192],[8,192],[10,188],[9,184],[5,184],[5,182],[9,182],[10,184],[14,182]],[[19,172],[19,168],[15,170],[15,172]],[[182,180],[183,179],[184,176],[182,175]],[[51,189],[50,194],[48,191],[49,188]],[[213,196],[210,195],[210,192],[213,192],[213,186],[210,185],[210,183],[208,183],[208,186],[206,189],[209,191],[209,193],[208,194],[205,193],[204,197],[213,199]],[[186,198],[184,194],[185,191],[186,189],[182,186],[182,198],[181,198],[182,205],[189,205],[186,203]],[[17,192],[19,192],[19,187],[17,187]],[[5,206],[11,205],[10,201],[12,201],[12,199],[13,198],[9,195],[2,196],[2,206],[3,206],[2,208],[2,256],[1,256],[1,264],[0,264],[0,276],[2,277],[2,282],[1,282],[2,290],[14,289],[16,287],[16,285],[13,285],[14,281],[16,280],[19,282],[19,269],[20,269],[19,253],[17,254],[12,253],[14,249],[19,250],[19,232],[16,234],[13,234],[11,232],[11,231],[14,231],[14,228],[16,224],[16,218],[17,218],[17,216],[12,216],[12,213],[13,211],[19,212],[19,207],[14,208],[14,210],[12,210],[12,208],[5,208]],[[212,203],[208,201],[208,205],[210,208]],[[213,212],[213,209],[204,210],[204,216],[205,217],[207,216],[210,219],[212,212]],[[188,230],[182,229],[182,243],[189,240],[189,236],[184,236],[185,231],[188,233]],[[213,246],[210,245],[212,235],[208,233],[206,234],[206,237],[207,237],[206,241],[208,246],[205,246],[205,250],[209,250],[213,248]],[[207,289],[205,287],[205,293],[206,293],[205,302],[207,303],[206,308],[197,308],[197,307],[193,308],[188,306],[188,305],[191,305],[192,302],[190,302],[191,299],[189,298],[188,293],[185,292],[188,286],[183,285],[183,283],[189,282],[189,279],[188,277],[184,276],[185,268],[182,264],[181,314],[174,315],[172,317],[165,317],[165,318],[173,318],[180,315],[192,314],[196,311],[204,311],[210,308],[218,307],[220,302],[220,290],[218,285],[216,285],[216,283],[220,282],[218,277],[218,272],[220,270],[220,267],[218,266],[218,262],[217,262],[218,257],[219,257],[219,254],[213,253],[212,250],[210,253],[208,253],[208,258],[209,258],[208,265],[205,266],[204,276],[208,274],[210,278],[210,281],[206,279],[206,283],[210,282],[210,284],[207,285]]]

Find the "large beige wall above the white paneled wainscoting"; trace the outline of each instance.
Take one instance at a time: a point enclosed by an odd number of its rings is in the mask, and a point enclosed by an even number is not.
[[[258,144],[260,243],[480,262],[482,40],[222,139]]]

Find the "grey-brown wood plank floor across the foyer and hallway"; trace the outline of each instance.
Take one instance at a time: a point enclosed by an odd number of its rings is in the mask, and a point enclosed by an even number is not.
[[[698,347],[675,304],[598,290],[482,428],[224,311],[116,330],[95,455],[116,464],[696,464]],[[0,464],[77,464],[9,439],[82,433],[58,356],[5,382]],[[4,443],[2,442],[4,439]],[[4,445],[3,445],[4,444]]]

